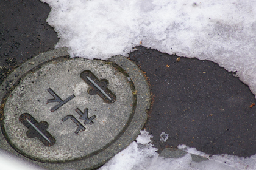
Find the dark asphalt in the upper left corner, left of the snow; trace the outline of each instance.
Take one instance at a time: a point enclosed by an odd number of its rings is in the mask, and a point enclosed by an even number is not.
[[[46,18],[50,7],[41,1],[0,1],[0,84],[17,66],[59,41]]]

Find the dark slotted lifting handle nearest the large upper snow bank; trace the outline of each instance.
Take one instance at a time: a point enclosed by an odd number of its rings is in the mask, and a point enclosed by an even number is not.
[[[82,80],[85,81],[89,86],[88,94],[98,94],[106,103],[113,103],[116,100],[116,96],[107,88],[108,80],[102,79],[101,81],[91,73],[89,70],[85,70],[80,74]]]

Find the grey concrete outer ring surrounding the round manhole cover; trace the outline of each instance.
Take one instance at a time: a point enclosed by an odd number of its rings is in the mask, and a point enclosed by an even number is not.
[[[60,56],[68,56],[69,53],[67,52],[67,48],[63,47],[60,49],[52,50],[49,52],[41,53],[38,56],[35,56],[29,61],[26,61],[26,63],[22,64],[20,67],[18,67],[15,71],[12,72],[9,77],[7,77],[4,82],[1,84],[1,91],[0,91],[0,98],[2,100],[6,100],[5,94],[6,92],[9,92],[9,90],[13,90],[13,85],[18,80],[20,80],[21,76],[24,75],[24,73],[28,72],[29,70],[33,69],[35,66],[38,66],[41,63],[44,63],[48,60],[51,60],[53,58],[59,58]],[[57,169],[57,168],[69,168],[71,166],[78,166],[83,168],[95,168],[99,165],[102,165],[105,163],[105,161],[112,158],[115,154],[122,151],[124,148],[126,148],[135,138],[140,134],[140,130],[143,128],[144,123],[146,122],[147,118],[147,110],[149,110],[150,107],[150,92],[148,83],[138,67],[132,63],[132,61],[128,60],[124,56],[113,56],[108,61],[116,63],[118,66],[120,66],[124,71],[129,75],[129,77],[132,79],[135,89],[137,90],[137,108],[135,109],[135,113],[133,115],[133,119],[130,122],[130,125],[127,127],[126,132],[121,135],[121,137],[118,138],[112,145],[108,146],[107,149],[104,151],[99,152],[96,155],[93,155],[89,158],[85,158],[82,160],[78,160],[75,162],[69,162],[65,164],[58,164],[58,163],[51,163],[50,166],[51,169]],[[19,75],[17,75],[17,73]],[[5,90],[2,90],[5,89]],[[2,103],[1,103],[2,104]],[[2,110],[4,108],[3,105],[1,105],[0,110],[0,116],[2,120]],[[2,126],[2,123],[1,123]],[[4,139],[2,133],[0,134],[0,148],[4,149],[5,151],[12,152],[13,154],[17,154],[15,151],[13,151],[12,148],[10,148],[7,141]],[[30,161],[32,163],[35,163],[39,166],[46,166],[45,163],[41,163],[40,161],[32,161],[29,158],[23,157],[25,160]],[[48,165],[49,167],[49,165]]]

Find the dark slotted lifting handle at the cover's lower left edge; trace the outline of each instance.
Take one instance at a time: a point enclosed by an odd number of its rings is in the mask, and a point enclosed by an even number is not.
[[[20,122],[29,129],[27,131],[27,137],[34,138],[37,137],[45,146],[52,146],[55,144],[56,140],[52,135],[46,131],[49,124],[46,121],[41,121],[38,123],[34,117],[30,114],[21,114],[19,118]]]

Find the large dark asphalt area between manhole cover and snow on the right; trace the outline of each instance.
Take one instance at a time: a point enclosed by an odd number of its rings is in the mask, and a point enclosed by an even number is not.
[[[162,151],[186,144],[207,154],[249,157],[256,153],[254,94],[233,73],[212,61],[180,58],[136,47],[130,53],[151,88],[146,130]],[[160,141],[161,132],[169,134]]]

